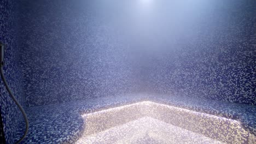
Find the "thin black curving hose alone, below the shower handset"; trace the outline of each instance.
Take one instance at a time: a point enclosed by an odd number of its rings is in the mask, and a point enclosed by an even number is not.
[[[2,64],[1,64],[1,77],[2,77],[2,80],[4,82],[4,85],[5,85],[6,89],[7,89],[7,91],[10,94],[10,97],[14,100],[15,104],[19,107],[20,111],[22,112],[22,115],[24,116],[25,122],[26,122],[26,131],[25,131],[24,135],[20,138],[20,140],[16,142],[16,143],[20,143],[22,140],[24,140],[24,138],[27,135],[27,131],[28,131],[27,115],[26,115],[26,112],[24,111],[24,109],[22,108],[22,106],[20,105],[19,101],[14,97],[13,92],[11,92],[11,89],[8,86],[7,81],[5,80],[5,77],[4,77],[4,74],[3,74],[3,65]]]

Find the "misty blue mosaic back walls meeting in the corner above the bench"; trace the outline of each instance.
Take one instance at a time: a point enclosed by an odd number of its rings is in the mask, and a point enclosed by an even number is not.
[[[255,1],[22,1],[28,106],[138,91],[254,105]]]

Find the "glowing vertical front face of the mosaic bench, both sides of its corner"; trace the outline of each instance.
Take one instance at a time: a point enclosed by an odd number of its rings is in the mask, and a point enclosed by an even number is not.
[[[173,127],[189,130],[191,133],[194,132],[224,143],[255,142],[255,136],[243,129],[241,123],[234,119],[154,103],[152,101],[142,101],[83,115],[85,121],[84,137],[94,134],[97,137],[97,134],[101,133],[101,131],[113,129],[118,125],[143,117],[154,118],[154,121],[158,119],[157,121],[165,122],[167,125],[171,124]],[[106,137],[108,135],[105,135]]]

